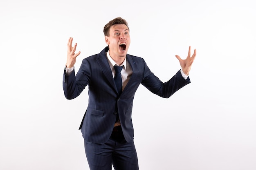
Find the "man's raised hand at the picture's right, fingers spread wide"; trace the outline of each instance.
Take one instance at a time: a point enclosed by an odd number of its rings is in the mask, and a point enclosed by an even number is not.
[[[182,68],[183,73],[185,73],[186,75],[189,75],[189,71],[191,69],[192,63],[195,60],[196,49],[194,50],[192,57],[190,56],[191,56],[191,46],[189,46],[189,53],[185,60],[182,60],[179,55],[175,55],[175,57],[177,57],[177,59],[180,61],[180,66]]]

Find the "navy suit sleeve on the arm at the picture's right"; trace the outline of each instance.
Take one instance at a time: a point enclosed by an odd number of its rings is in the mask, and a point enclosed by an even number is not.
[[[180,88],[190,83],[189,77],[184,79],[180,70],[168,80],[168,82],[162,82],[157,76],[155,76],[144,61],[144,78],[141,82],[152,93],[159,95],[160,97],[169,98]]]

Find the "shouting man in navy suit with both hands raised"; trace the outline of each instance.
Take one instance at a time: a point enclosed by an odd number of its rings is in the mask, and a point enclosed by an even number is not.
[[[74,64],[80,51],[75,53],[77,44],[72,47],[73,39],[69,38],[63,75],[64,94],[67,99],[74,99],[85,86],[89,87],[88,107],[79,129],[90,169],[111,170],[112,163],[115,170],[138,170],[131,119],[135,92],[142,84],[152,93],[168,98],[189,84],[188,75],[196,50],[191,57],[189,47],[186,60],[176,55],[182,69],[163,83],[150,71],[143,58],[127,54],[130,34],[126,20],[111,20],[103,32],[108,46],[99,54],[83,59],[76,75]]]

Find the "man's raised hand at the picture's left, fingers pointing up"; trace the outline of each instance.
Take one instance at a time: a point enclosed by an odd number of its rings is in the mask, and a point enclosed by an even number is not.
[[[72,41],[73,38],[70,37],[67,42],[67,68],[72,68],[76,63],[76,57],[81,53],[80,51],[78,53],[75,53],[77,43],[75,43],[74,47],[72,47]]]

